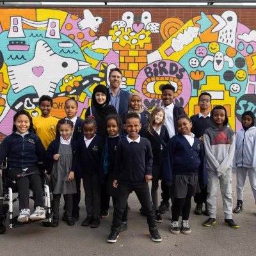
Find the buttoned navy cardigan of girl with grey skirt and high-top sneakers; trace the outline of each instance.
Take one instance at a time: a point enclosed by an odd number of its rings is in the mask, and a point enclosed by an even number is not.
[[[164,181],[172,184],[173,175],[198,175],[200,185],[207,184],[204,148],[198,138],[191,145],[178,134],[171,138],[164,156]]]

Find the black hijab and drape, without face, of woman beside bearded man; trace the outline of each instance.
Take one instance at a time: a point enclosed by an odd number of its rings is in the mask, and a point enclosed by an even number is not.
[[[106,95],[106,101],[104,104],[99,104],[95,98],[95,94],[97,92],[104,93]],[[118,115],[115,107],[109,105],[110,102],[110,94],[108,88],[106,86],[99,84],[97,85],[92,93],[92,114],[95,117],[95,121],[97,122],[97,134],[100,137],[105,137],[108,132],[106,129],[106,118],[109,115]]]

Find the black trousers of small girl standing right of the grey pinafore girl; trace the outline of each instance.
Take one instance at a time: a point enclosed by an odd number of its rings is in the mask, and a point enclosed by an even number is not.
[[[100,182],[98,174],[86,173],[83,175],[85,205],[87,217],[99,218],[100,216]]]

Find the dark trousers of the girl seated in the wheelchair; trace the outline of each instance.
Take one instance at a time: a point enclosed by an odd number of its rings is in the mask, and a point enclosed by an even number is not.
[[[13,180],[16,180],[16,176],[24,171],[21,168],[10,168],[7,172],[7,176]],[[44,207],[44,192],[42,189],[42,179],[40,171],[36,166],[28,168],[26,173],[36,172],[35,174],[21,177],[16,180],[18,189],[19,207],[20,209],[29,209],[29,186],[33,191],[33,198],[35,200],[35,207]]]

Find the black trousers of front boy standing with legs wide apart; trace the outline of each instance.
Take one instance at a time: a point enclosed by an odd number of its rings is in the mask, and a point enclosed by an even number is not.
[[[136,193],[141,207],[143,207],[143,211],[147,215],[148,226],[156,227],[155,208],[151,201],[148,183],[142,185],[118,184],[118,195],[114,207],[112,227],[118,228],[122,224],[125,207],[127,207],[127,200],[132,191]]]

